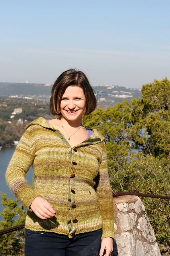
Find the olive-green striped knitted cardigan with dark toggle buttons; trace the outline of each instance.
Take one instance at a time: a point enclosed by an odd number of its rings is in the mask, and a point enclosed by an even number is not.
[[[93,134],[82,143],[68,144],[63,134],[40,117],[26,126],[6,171],[6,182],[27,208],[25,228],[68,235],[103,228],[113,238],[113,198],[107,171],[104,137]],[[33,187],[25,175],[33,165]],[[41,196],[56,211],[38,218],[29,208]]]

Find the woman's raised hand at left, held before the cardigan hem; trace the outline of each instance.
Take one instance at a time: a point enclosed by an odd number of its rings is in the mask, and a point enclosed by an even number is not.
[[[41,196],[37,196],[33,200],[30,208],[42,220],[53,218],[56,213],[51,204]]]

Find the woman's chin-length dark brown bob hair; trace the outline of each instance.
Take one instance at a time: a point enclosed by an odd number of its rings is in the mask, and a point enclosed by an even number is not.
[[[92,113],[97,106],[97,100],[95,97],[95,92],[92,89],[88,78],[80,70],[69,69],[64,71],[53,84],[49,106],[51,114],[53,116],[61,115],[61,99],[68,86],[78,86],[83,89],[86,98],[84,115],[89,115],[90,113]]]

